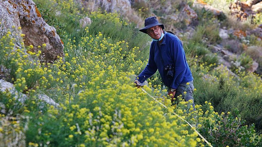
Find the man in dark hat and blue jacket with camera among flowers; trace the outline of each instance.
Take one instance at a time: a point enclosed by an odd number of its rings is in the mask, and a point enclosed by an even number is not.
[[[149,60],[145,69],[136,77],[134,83],[140,84],[151,77],[158,69],[163,83],[169,88],[171,101],[180,94],[186,101],[192,99],[193,77],[185,58],[182,42],[174,34],[163,31],[164,25],[156,17],[145,19],[145,27],[139,31],[152,38]],[[189,84],[188,84],[189,83]],[[184,93],[186,92],[186,94]]]

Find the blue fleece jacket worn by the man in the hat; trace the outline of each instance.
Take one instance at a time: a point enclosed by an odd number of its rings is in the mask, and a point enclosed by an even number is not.
[[[165,36],[160,44],[158,41],[152,41],[146,68],[137,77],[140,83],[144,83],[158,69],[163,83],[169,88],[177,89],[180,83],[189,82],[193,80],[193,77],[180,39],[176,35],[166,31],[164,34]],[[161,61],[161,54],[163,63]],[[168,79],[164,71],[164,67],[169,64],[174,66],[173,79]]]

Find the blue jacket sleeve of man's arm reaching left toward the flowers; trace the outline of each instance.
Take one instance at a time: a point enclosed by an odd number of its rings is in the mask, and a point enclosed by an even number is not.
[[[140,83],[144,83],[144,81],[151,77],[152,75],[154,75],[154,73],[157,71],[157,65],[154,61],[154,51],[152,50],[152,44],[150,46],[150,50],[149,50],[149,59],[148,59],[148,63],[145,67],[145,69],[137,76],[138,77],[138,81]]]

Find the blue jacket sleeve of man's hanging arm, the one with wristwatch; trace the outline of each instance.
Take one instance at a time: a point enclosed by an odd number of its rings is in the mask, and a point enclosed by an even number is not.
[[[175,63],[174,79],[170,87],[173,89],[177,89],[185,76],[185,51],[183,49],[182,42],[178,38],[171,41],[170,47]]]

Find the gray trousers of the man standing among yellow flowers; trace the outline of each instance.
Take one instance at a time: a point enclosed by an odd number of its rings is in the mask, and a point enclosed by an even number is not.
[[[186,82],[187,83],[187,82]],[[188,101],[190,99],[193,100],[193,108],[195,110],[195,103],[194,103],[194,97],[193,97],[193,92],[194,92],[194,84],[193,84],[193,80],[188,82],[189,85],[186,85],[186,83],[181,83],[176,90],[176,94],[175,97],[177,99],[177,97],[181,94],[182,98],[185,99],[185,101]],[[170,90],[170,88],[168,88],[168,90]],[[186,94],[184,94],[184,91],[186,92]]]

